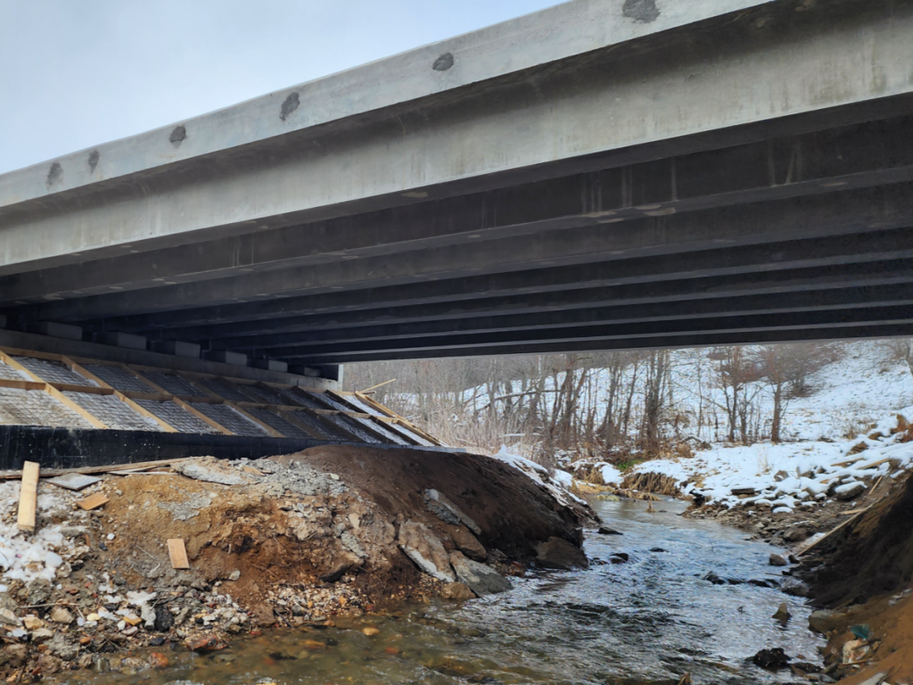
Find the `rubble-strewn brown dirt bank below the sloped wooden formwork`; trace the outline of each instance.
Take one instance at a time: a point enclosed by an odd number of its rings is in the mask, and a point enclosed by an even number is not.
[[[0,484],[10,682],[136,672],[169,649],[219,649],[264,627],[498,592],[530,565],[586,564],[581,528],[593,522],[498,460],[405,449],[189,459],[80,492],[43,480],[38,492],[26,535],[15,531],[18,483]],[[109,501],[82,511],[91,494]],[[189,570],[172,567],[168,540],[184,542]]]

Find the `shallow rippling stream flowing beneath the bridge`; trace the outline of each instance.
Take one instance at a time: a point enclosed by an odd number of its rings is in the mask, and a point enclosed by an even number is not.
[[[79,682],[641,685],[674,684],[690,673],[696,685],[746,685],[792,682],[785,671],[750,665],[761,648],[818,660],[823,642],[808,630],[802,600],[701,580],[708,572],[778,577],[767,565],[770,546],[714,522],[683,519],[677,502],[661,502],[656,512],[632,501],[596,501],[594,509],[624,534],[589,535],[585,549],[593,564],[585,571],[516,579],[509,593],[463,605],[404,607],[338,619],[336,627],[236,640],[215,655],[172,652],[172,667],[164,671],[80,676]],[[630,561],[608,563],[618,552]],[[771,618],[783,601],[793,614],[786,627]],[[379,633],[369,637],[364,627]]]

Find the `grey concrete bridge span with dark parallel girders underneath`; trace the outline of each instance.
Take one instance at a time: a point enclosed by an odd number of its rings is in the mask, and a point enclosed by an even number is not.
[[[910,37],[902,0],[574,0],[0,175],[0,344],[913,334]]]

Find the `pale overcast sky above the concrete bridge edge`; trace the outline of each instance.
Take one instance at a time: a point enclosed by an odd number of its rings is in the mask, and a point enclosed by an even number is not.
[[[0,174],[557,0],[0,0]]]

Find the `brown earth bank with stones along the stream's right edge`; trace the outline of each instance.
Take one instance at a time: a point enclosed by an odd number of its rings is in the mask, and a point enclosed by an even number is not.
[[[814,511],[692,506],[792,550],[782,588],[818,608],[824,669],[847,685],[913,680],[913,479],[881,479]]]

